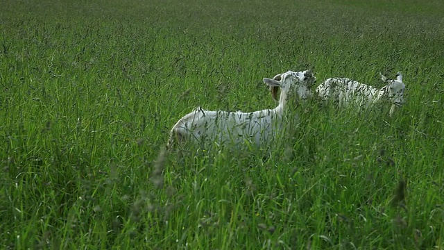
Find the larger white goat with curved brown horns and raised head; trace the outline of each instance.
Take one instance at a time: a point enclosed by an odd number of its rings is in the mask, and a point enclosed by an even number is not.
[[[308,86],[316,81],[313,74],[303,72],[285,72],[274,78],[264,78],[264,83],[281,89],[279,105],[274,109],[259,110],[251,113],[209,111],[196,108],[180,118],[170,132],[167,148],[178,141],[216,142],[224,144],[248,141],[258,147],[266,147],[282,128],[282,119],[287,112],[287,101],[297,93],[305,98]]]

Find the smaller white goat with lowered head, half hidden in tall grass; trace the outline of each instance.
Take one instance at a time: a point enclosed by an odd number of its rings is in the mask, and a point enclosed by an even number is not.
[[[364,83],[358,83],[350,78],[328,78],[325,82],[318,85],[316,94],[323,101],[332,99],[338,102],[339,106],[357,105],[368,108],[373,103],[381,101],[390,101],[390,115],[393,115],[395,108],[404,104],[405,85],[402,82],[402,74],[396,74],[396,80],[387,80],[380,74],[382,81],[387,85],[380,90]]]

